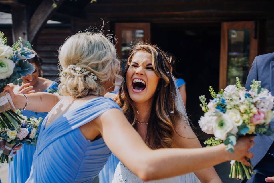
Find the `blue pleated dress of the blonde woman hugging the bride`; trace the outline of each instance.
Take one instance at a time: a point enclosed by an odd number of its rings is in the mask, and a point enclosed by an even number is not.
[[[79,127],[112,108],[120,109],[110,98],[97,97],[64,112],[47,128],[46,117],[26,183],[92,182],[111,152],[103,138],[86,140]]]

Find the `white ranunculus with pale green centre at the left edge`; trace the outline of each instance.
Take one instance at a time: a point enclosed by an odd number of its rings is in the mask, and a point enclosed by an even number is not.
[[[5,79],[12,75],[15,63],[12,60],[0,57],[0,79]]]

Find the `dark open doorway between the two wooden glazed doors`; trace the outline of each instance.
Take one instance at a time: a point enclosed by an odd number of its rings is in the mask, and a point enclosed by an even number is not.
[[[175,77],[186,81],[186,110],[194,126],[203,115],[199,96],[209,100],[209,86],[219,88],[220,38],[221,23],[151,24],[151,42],[176,57]]]

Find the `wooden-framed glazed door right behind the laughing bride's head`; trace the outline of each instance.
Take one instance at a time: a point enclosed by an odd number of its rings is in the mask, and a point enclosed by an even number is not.
[[[150,23],[115,23],[115,35],[117,53],[124,68],[130,48],[134,44],[140,41],[150,43]]]

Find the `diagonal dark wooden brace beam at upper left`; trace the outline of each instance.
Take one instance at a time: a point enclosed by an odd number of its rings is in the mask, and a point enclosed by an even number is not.
[[[64,2],[65,0],[57,1],[57,7],[52,7],[51,0],[43,0],[41,4],[37,7],[35,12],[33,13],[30,21],[29,21],[29,41],[32,42],[43,25],[47,23],[51,15],[58,9],[58,7]]]

